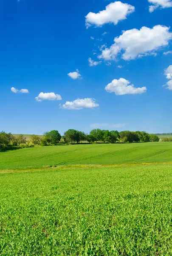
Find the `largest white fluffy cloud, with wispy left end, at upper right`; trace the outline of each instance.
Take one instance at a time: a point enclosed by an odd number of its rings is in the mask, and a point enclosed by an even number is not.
[[[155,55],[155,51],[169,44],[172,33],[169,27],[157,25],[152,29],[142,27],[124,31],[122,35],[114,39],[114,44],[110,48],[102,51],[99,58],[104,60],[114,60],[122,51],[124,60],[131,60],[137,57]]]

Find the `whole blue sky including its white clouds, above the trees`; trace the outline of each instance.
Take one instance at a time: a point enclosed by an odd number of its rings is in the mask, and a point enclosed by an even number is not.
[[[2,0],[0,130],[172,132],[168,2]]]

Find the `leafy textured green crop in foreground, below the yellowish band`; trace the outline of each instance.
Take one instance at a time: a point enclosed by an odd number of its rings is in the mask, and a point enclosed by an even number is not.
[[[171,256],[172,165],[0,171],[0,255]]]

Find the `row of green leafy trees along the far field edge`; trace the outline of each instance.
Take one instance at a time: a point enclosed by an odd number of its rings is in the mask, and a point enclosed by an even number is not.
[[[156,134],[148,134],[145,131],[109,131],[93,129],[89,134],[83,131],[69,129],[61,136],[59,131],[45,132],[42,137],[31,135],[27,140],[23,134],[15,137],[11,133],[0,132],[0,149],[10,150],[21,147],[33,147],[35,145],[68,145],[73,143],[138,143],[158,142]]]

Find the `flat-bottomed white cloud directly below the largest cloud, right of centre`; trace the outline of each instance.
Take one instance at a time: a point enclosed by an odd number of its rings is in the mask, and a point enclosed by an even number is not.
[[[124,78],[120,78],[119,80],[114,79],[110,84],[107,84],[105,90],[108,93],[115,93],[116,95],[124,95],[124,94],[138,94],[138,93],[146,93],[147,87],[138,87],[135,88],[134,84],[130,84],[130,81],[127,81]]]

